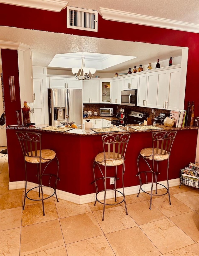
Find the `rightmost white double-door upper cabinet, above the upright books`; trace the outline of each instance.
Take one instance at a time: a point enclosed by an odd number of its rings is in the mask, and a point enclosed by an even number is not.
[[[180,109],[180,68],[170,69],[161,77],[158,83],[157,108],[160,109]]]

